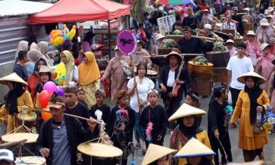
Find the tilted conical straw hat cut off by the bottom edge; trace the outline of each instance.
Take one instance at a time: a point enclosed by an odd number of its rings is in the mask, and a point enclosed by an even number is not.
[[[142,160],[141,165],[151,164],[155,160],[164,157],[170,153],[175,153],[177,150],[167,148],[164,146],[159,146],[156,144],[149,144],[146,154]]]

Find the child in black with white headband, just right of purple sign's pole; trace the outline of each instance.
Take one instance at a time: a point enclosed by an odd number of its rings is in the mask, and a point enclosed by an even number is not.
[[[142,115],[140,116],[140,126],[146,130],[146,148],[149,143],[162,146],[168,126],[166,111],[164,107],[157,104],[159,100],[157,90],[150,89],[147,99],[150,105],[142,111]],[[145,153],[146,151],[142,152]]]

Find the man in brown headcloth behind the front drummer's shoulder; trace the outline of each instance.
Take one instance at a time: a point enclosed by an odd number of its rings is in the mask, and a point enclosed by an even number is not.
[[[78,102],[77,87],[74,85],[68,85],[65,86],[63,90],[66,104],[66,110],[64,113],[79,115],[83,118],[89,118],[89,109],[85,106],[85,104]],[[87,121],[80,120],[80,122],[85,129],[88,128]]]

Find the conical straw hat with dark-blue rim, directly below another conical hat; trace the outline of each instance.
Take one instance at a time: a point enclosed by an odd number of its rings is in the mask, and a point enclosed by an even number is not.
[[[205,144],[201,143],[195,137],[192,137],[184,147],[179,150],[173,157],[196,157],[196,156],[210,156],[216,155],[212,149],[208,148]]]

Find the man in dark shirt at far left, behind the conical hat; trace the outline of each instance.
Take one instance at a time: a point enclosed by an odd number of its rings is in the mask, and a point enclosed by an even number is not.
[[[25,69],[25,63],[28,62],[28,56],[27,51],[21,50],[18,53],[18,61],[14,65],[13,72],[15,72],[19,77],[21,77],[25,82],[28,82],[28,72],[27,69]]]

